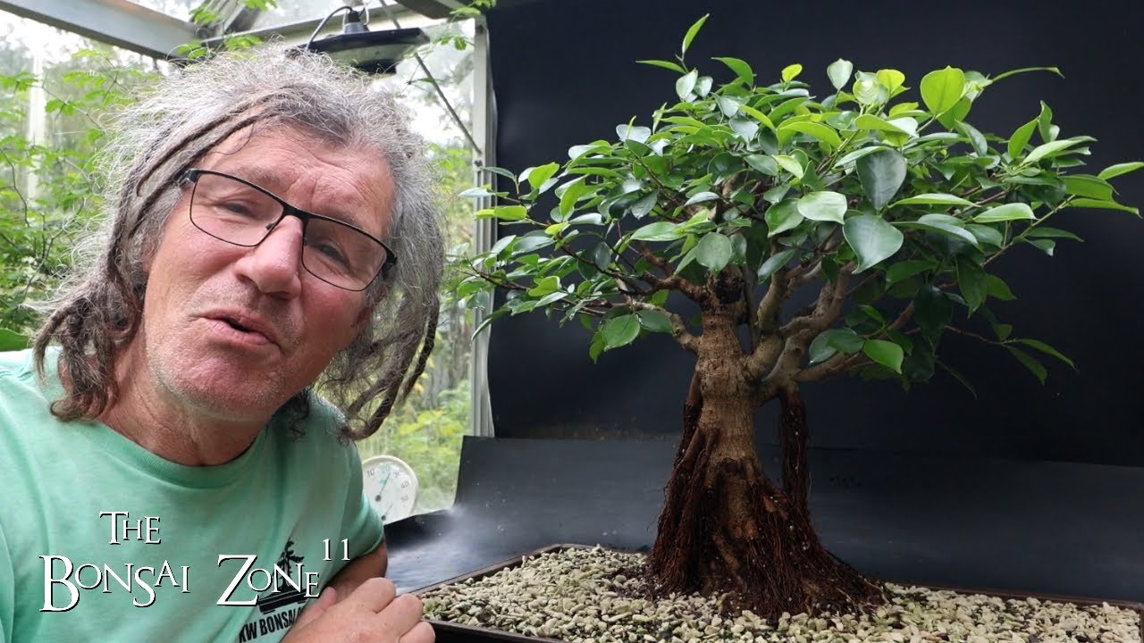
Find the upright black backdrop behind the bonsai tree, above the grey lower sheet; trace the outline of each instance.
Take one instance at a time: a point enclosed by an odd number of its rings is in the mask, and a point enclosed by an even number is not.
[[[733,0],[501,0],[488,16],[498,102],[498,165],[521,170],[566,158],[570,145],[614,136],[633,116],[674,100],[672,72],[636,64],[670,58],[701,14],[710,18],[688,59],[721,80],[712,56],[750,62],[777,79],[794,62],[812,88],[828,87],[839,57],[858,70],[895,68],[907,86],[947,64],[996,74],[1056,65],[991,87],[970,121],[1008,134],[1055,112],[1062,136],[1098,138],[1093,172],[1144,158],[1144,24],[1139,8],[1101,3],[803,2]],[[916,92],[915,92],[916,94]],[[1144,170],[1114,180],[1120,200],[1144,206]],[[1016,333],[1047,341],[1079,372],[1046,358],[1041,386],[1006,352],[947,336],[943,356],[975,384],[974,397],[938,372],[909,392],[857,380],[810,386],[812,444],[879,451],[975,454],[1144,466],[1137,368],[1144,358],[1139,302],[1144,222],[1112,211],[1066,211],[1057,224],[1083,244],[1056,256],[1017,248],[996,271],[1019,297],[996,311]],[[498,437],[662,437],[677,435],[690,355],[654,336],[588,358],[588,333],[542,315],[493,325],[488,379]],[[756,426],[769,439],[774,410]]]

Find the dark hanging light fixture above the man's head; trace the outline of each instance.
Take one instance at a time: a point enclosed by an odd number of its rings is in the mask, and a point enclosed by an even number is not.
[[[326,26],[329,18],[339,11],[345,11],[342,18],[342,32],[317,39],[318,32]],[[366,22],[368,22],[366,9]],[[397,63],[408,51],[429,42],[429,37],[420,29],[395,29],[388,31],[370,31],[362,22],[362,13],[350,7],[339,7],[326,16],[313,30],[305,49],[326,54],[339,63],[347,64],[370,73],[391,73]]]

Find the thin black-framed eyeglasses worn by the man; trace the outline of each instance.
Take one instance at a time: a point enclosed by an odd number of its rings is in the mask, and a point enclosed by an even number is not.
[[[397,263],[381,239],[336,219],[299,209],[249,181],[212,169],[188,169],[191,223],[215,239],[254,247],[287,216],[302,220],[302,267],[323,281],[364,291]]]

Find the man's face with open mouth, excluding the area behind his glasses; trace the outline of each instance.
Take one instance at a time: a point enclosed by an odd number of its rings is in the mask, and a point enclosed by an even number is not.
[[[389,227],[392,180],[378,152],[331,146],[294,129],[244,130],[197,167],[245,178],[378,238]],[[188,188],[151,259],[133,349],[142,350],[167,400],[230,421],[264,421],[362,330],[365,293],[302,267],[297,217],[287,216],[259,246],[241,247],[196,228],[190,197]]]

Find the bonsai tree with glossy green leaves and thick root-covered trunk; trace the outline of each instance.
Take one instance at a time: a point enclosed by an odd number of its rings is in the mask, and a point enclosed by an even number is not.
[[[1065,208],[1136,213],[1107,180],[1144,164],[1083,173],[1094,140],[1062,137],[1043,103],[1009,136],[970,125],[991,85],[1034,70],[945,68],[914,89],[897,70],[855,73],[839,59],[816,94],[801,65],[760,85],[747,62],[715,58],[733,77],[716,85],[683,55],[704,19],[677,62],[642,61],[677,74],[650,120],[562,162],[493,169],[514,189],[470,191],[495,195],[478,216],[516,233],[463,262],[460,293],[482,307],[501,291],[488,322],[577,319],[595,331],[593,359],[650,333],[694,355],[649,556],[660,589],[729,593],[771,618],[861,608],[882,598],[879,586],[811,523],[802,387],[848,374],[927,381],[946,332],[1001,347],[1041,380],[1034,355],[1071,365],[998,320],[990,304],[1014,295],[991,264],[1074,239],[1049,225]],[[986,330],[954,326],[964,319]],[[772,402],[781,471],[754,451],[753,419]]]

